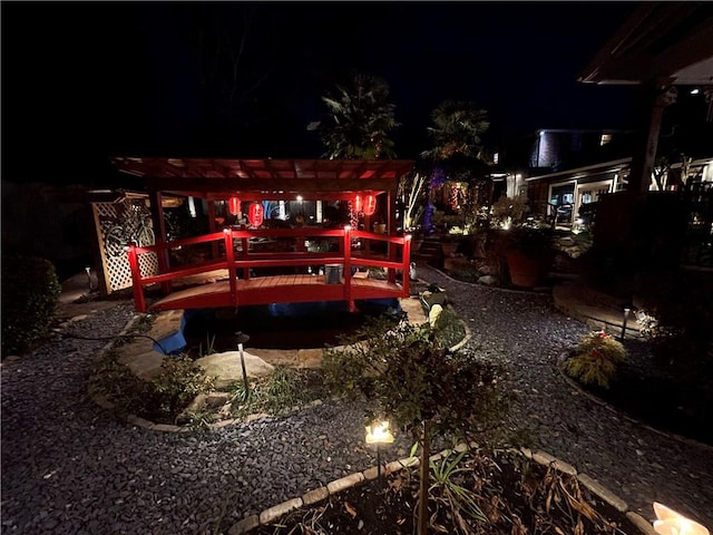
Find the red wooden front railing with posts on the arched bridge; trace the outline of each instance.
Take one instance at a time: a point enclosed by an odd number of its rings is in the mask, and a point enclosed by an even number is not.
[[[261,251],[260,240],[281,240],[284,251]],[[314,250],[310,242],[329,239],[330,250]],[[223,252],[205,262],[172,268],[168,251],[201,243],[223,243]],[[263,242],[264,243],[264,242]],[[384,244],[385,254],[372,252],[374,244]],[[364,245],[362,249],[361,245]],[[225,228],[223,232],[187,237],[172,242],[156,243],[147,247],[130,244],[127,247],[131,269],[134,302],[139,311],[146,310],[144,286],[159,283],[165,294],[172,292],[172,282],[214,270],[227,270],[233,302],[237,302],[237,273],[250,280],[254,270],[264,268],[294,268],[315,264],[343,265],[344,300],[351,301],[352,268],[381,268],[387,271],[387,280],[395,282],[397,270],[401,270],[402,294],[409,295],[409,264],[411,236],[389,236],[344,228]],[[139,255],[156,253],[159,259],[159,274],[144,276],[139,266]],[[400,253],[400,254],[399,254]]]

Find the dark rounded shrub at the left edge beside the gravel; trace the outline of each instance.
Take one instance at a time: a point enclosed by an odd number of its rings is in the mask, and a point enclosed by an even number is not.
[[[51,262],[35,256],[3,256],[2,357],[27,351],[47,332],[60,292]]]

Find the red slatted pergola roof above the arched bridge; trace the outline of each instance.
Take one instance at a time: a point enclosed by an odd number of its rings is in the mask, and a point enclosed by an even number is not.
[[[413,169],[406,159],[226,159],[114,157],[146,187],[175,195],[223,200],[346,200],[358,192],[394,191]]]

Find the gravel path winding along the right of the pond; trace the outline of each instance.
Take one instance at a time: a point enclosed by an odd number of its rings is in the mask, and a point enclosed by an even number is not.
[[[419,278],[448,292],[469,322],[471,346],[509,364],[518,395],[512,417],[551,455],[574,465],[652,518],[653,502],[713,527],[713,448],[690,445],[624,419],[579,395],[557,359],[588,329],[553,308],[549,295],[455,281],[427,265]]]

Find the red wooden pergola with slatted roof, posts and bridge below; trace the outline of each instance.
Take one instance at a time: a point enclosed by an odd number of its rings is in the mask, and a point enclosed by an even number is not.
[[[400,178],[413,168],[412,160],[328,160],[328,159],[226,159],[226,158],[138,158],[115,157],[114,165],[123,173],[144,178],[150,202],[156,232],[154,246],[129,246],[137,310],[145,309],[143,286],[160,283],[166,295],[155,303],[158,309],[225,307],[270,302],[354,300],[408,295],[409,237],[397,236],[395,198]],[[226,226],[216,228],[215,202],[238,196],[242,201],[351,201],[356,195],[385,196],[387,234],[379,235],[349,225],[344,228],[302,226],[297,228],[256,228]],[[193,196],[207,201],[209,234],[167,241],[163,214],[163,197]],[[369,217],[365,225],[369,228]],[[339,252],[309,252],[301,243],[306,235],[338,239]],[[290,237],[296,240],[294,251],[257,252],[248,240],[261,237]],[[352,237],[363,239],[365,251],[352,254]],[[224,252],[218,254],[218,243]],[[371,254],[371,241],[387,245],[385,256]],[[195,243],[212,244],[212,260],[188,266],[172,266],[168,251],[174,246]],[[242,246],[234,251],[234,244]],[[401,252],[401,257],[398,252]],[[144,276],[139,256],[156,254],[158,274]],[[292,274],[262,276],[253,280],[251,268],[294,268],[314,263],[340,264],[344,268],[343,282],[330,283],[309,275]],[[387,281],[355,280],[352,266],[379,266],[388,271]],[[227,269],[228,280],[213,289],[186,290],[172,293],[170,282],[185,275],[215,269]],[[403,285],[395,282],[397,270],[407,273]],[[237,273],[243,278],[237,280]],[[168,295],[172,293],[170,295]]]

